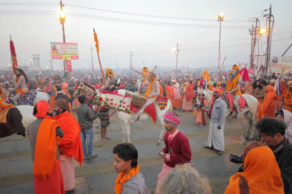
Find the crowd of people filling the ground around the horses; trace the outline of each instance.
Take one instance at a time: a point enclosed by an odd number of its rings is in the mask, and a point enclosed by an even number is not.
[[[134,69],[133,69],[134,70]],[[76,97],[73,89],[76,82],[91,83],[97,90],[139,90],[147,97],[146,104],[153,103],[157,96],[167,97],[174,109],[189,111],[196,115],[198,127],[206,125],[210,118],[208,141],[204,148],[224,153],[224,124],[227,104],[222,93],[234,96],[237,118],[240,117],[239,98],[249,94],[258,100],[256,129],[260,134],[257,142],[245,147],[242,154],[244,168],[230,178],[225,194],[291,194],[292,193],[292,81],[290,75],[255,76],[243,81],[239,67],[217,77],[210,72],[206,78],[199,72],[191,75],[172,76],[148,72],[147,68],[134,76],[114,76],[107,69],[105,84],[100,77],[90,73],[74,72],[69,81],[52,72],[23,72],[17,69],[17,81],[10,75],[3,76],[2,85],[25,95],[29,90],[43,90],[51,96],[51,104],[42,100],[34,108],[37,120],[27,127],[32,160],[34,162],[35,193],[64,194],[74,191],[75,175],[73,160],[80,163],[97,157],[93,154],[93,120],[100,118],[102,141],[108,141],[108,110],[95,113],[87,106],[86,96]],[[153,71],[156,70],[156,67]],[[9,74],[9,73],[8,73]],[[138,74],[142,83],[136,84]],[[289,77],[288,77],[289,76]],[[19,79],[20,77],[23,77]],[[119,84],[115,80],[120,79]],[[207,81],[208,80],[208,81]],[[277,82],[278,81],[278,82]],[[135,86],[136,85],[136,86]],[[212,91],[210,104],[197,106],[196,91]],[[24,92],[22,92],[24,91]],[[19,95],[21,97],[21,95]],[[142,107],[142,109],[145,107]],[[72,112],[76,111],[76,119]],[[177,110],[176,110],[177,111]],[[143,113],[143,110],[142,110]],[[132,121],[134,122],[134,117]],[[164,160],[158,175],[156,192],[160,194],[196,193],[211,194],[210,182],[201,177],[190,163],[192,152],[187,137],[178,129],[181,118],[176,113],[164,114],[164,149],[159,159]],[[86,144],[87,142],[87,144]],[[143,175],[139,172],[138,152],[132,144],[114,146],[113,167],[119,173],[114,190],[117,194],[148,194]],[[44,160],[45,159],[45,160]],[[262,170],[262,165],[266,170]]]

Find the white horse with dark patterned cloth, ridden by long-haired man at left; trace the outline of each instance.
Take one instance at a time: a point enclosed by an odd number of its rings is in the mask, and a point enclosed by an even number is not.
[[[4,101],[6,103],[13,104],[12,98],[14,97],[15,93],[10,92],[9,90],[5,90],[2,87],[2,85],[1,85],[0,93],[3,94]],[[29,92],[29,93],[26,94],[26,97],[29,97],[29,95],[31,95],[31,93],[34,93],[34,92]],[[25,105],[33,105],[33,106],[35,106],[37,104],[37,102],[40,101],[40,100],[45,100],[49,104],[51,103],[51,97],[47,93],[43,93],[43,92],[40,92],[40,91],[35,91],[35,93],[36,93],[36,97],[34,99],[24,100],[25,103],[26,103]],[[25,96],[22,96],[22,97],[25,98]],[[19,99],[22,100],[22,97],[20,97]],[[31,101],[32,101],[32,103],[30,103]]]

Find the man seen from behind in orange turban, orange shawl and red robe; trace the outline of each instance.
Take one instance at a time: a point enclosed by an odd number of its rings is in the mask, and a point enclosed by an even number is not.
[[[47,101],[37,102],[33,114],[37,120],[26,129],[34,162],[35,194],[65,194],[58,149],[64,134]]]

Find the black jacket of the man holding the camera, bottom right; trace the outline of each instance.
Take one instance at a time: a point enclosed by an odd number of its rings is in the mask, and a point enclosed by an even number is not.
[[[284,146],[282,150],[276,152],[276,149],[281,144],[286,146]],[[292,194],[292,144],[285,137],[284,141],[272,147],[272,150],[280,167],[281,178],[284,183],[284,192],[285,194]]]

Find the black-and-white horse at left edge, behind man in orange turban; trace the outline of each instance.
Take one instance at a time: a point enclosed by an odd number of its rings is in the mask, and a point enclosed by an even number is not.
[[[0,138],[14,133],[25,137],[25,128],[37,118],[33,115],[34,107],[19,105],[9,109],[7,123],[0,123]]]

